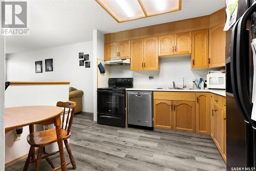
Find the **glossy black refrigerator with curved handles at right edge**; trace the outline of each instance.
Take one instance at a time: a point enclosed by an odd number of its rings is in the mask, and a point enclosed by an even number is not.
[[[251,119],[255,0],[239,0],[237,22],[226,31],[227,170],[255,170],[256,122]]]

